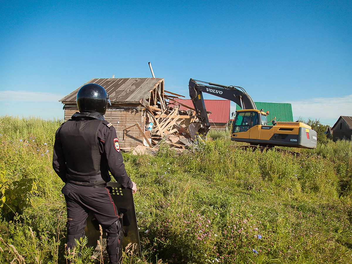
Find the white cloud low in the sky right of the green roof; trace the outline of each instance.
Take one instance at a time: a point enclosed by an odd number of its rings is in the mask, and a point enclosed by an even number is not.
[[[352,115],[352,94],[343,97],[312,98],[301,101],[289,101],[294,116],[314,119],[335,118],[340,115]]]

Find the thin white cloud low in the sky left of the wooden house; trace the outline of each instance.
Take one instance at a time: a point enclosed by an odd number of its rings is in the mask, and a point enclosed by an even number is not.
[[[58,102],[62,95],[28,91],[0,91],[0,101]]]

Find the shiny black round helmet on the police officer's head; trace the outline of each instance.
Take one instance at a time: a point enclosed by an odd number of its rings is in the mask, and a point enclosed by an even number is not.
[[[77,106],[80,112],[105,114],[107,103],[111,105],[109,96],[99,84],[88,83],[78,90]]]

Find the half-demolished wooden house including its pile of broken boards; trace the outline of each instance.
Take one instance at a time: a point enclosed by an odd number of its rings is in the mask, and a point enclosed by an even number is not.
[[[195,110],[177,102],[184,96],[164,90],[163,78],[94,78],[87,83],[99,84],[108,93],[111,106],[105,119],[115,127],[121,149],[153,147],[162,138],[184,148],[200,127]],[[59,100],[64,104],[65,120],[78,111],[76,96],[81,87]],[[187,110],[180,110],[182,105]]]

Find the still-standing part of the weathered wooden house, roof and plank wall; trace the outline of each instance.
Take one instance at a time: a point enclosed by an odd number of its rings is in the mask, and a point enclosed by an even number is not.
[[[120,146],[124,148],[148,145],[145,137],[150,138],[150,135],[148,136],[149,118],[147,117],[146,106],[166,108],[164,79],[95,78],[87,83],[99,84],[108,93],[111,106],[108,105],[105,120],[111,122],[115,127]],[[59,100],[64,104],[65,121],[78,111],[76,96],[81,87]]]

